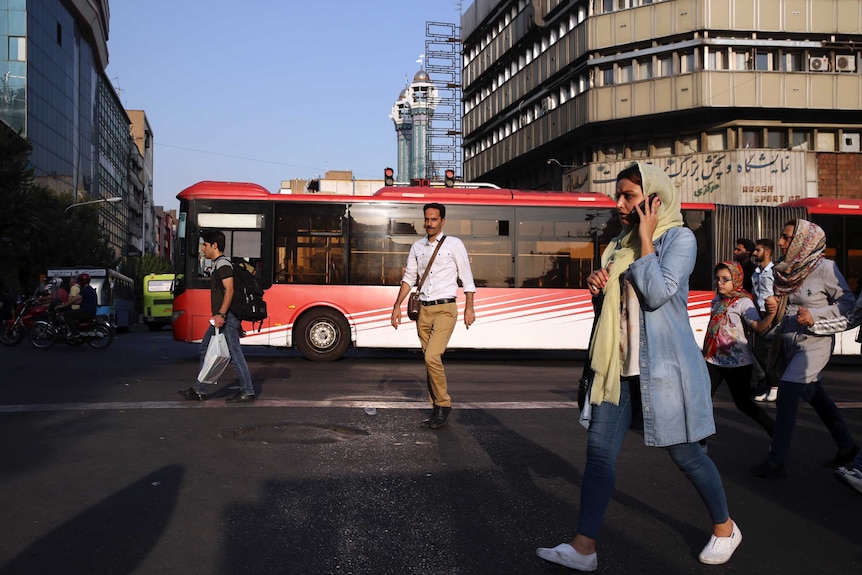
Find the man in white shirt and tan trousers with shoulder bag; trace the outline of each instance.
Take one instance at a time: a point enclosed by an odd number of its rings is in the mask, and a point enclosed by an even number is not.
[[[470,260],[467,248],[458,238],[443,236],[443,224],[446,222],[446,206],[438,203],[426,204],[425,214],[426,237],[417,241],[410,248],[407,256],[407,266],[401,279],[401,289],[392,309],[392,327],[398,329],[401,323],[401,302],[423,276],[428,262],[436,248],[439,248],[430,273],[420,286],[419,299],[421,306],[419,318],[416,320],[416,332],[425,354],[426,381],[428,395],[431,397],[433,411],[431,416],[422,422],[431,429],[439,429],[446,425],[449,412],[452,410],[452,399],[449,397],[446,372],[443,369],[443,353],[449,345],[449,338],[458,322],[458,281],[464,288],[467,302],[464,306],[464,325],[469,329],[476,320],[473,311],[473,298],[476,286],[473,283],[473,272],[470,270]],[[446,240],[444,243],[443,240]]]

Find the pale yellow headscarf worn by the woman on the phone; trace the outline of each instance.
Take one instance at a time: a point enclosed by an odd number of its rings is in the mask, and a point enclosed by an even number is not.
[[[656,194],[661,201],[658,210],[658,226],[652,236],[655,241],[669,229],[682,226],[679,192],[663,170],[643,162],[634,162],[632,165],[636,165],[640,171],[644,197]],[[599,405],[603,401],[618,405],[620,401],[620,306],[622,303],[620,279],[629,265],[640,255],[641,242],[637,226],[630,224],[623,225],[620,235],[610,241],[602,254],[602,267],[608,270],[609,277],[602,290],[604,294],[602,311],[590,343],[590,365],[595,372],[590,403],[594,405]]]

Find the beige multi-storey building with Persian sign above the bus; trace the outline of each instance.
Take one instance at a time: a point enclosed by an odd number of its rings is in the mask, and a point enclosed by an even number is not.
[[[632,160],[684,200],[862,189],[862,2],[477,0],[464,178],[612,195]]]

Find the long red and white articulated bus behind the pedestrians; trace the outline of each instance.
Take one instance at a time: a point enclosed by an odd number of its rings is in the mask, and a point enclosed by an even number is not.
[[[386,187],[373,196],[282,195],[245,183],[200,182],[180,200],[173,331],[200,341],[210,317],[210,266],[203,230],[226,236],[265,289],[269,317],[244,345],[295,347],[315,361],[357,348],[418,347],[415,330],[390,325],[410,246],[424,235],[422,206],[446,205],[444,231],[470,255],[476,322],[458,323],[449,349],[583,350],[593,310],[586,278],[619,233],[615,203],[589,192]],[[700,339],[713,297],[713,265],[731,259],[735,239],[778,236],[810,214],[827,232],[829,257],[858,289],[862,202],[802,200],[782,207],[684,204],[698,237],[689,314]],[[463,308],[463,297],[459,306]],[[404,315],[406,318],[406,313]],[[858,353],[855,333],[836,353]]]

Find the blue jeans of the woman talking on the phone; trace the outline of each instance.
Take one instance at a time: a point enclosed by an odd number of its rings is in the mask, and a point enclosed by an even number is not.
[[[634,379],[634,378],[633,378]],[[630,387],[640,395],[638,380],[623,379],[620,386],[620,403],[604,402],[593,406],[590,429],[587,432],[587,464],[581,483],[581,514],[578,534],[596,539],[616,483],[616,460],[623,439],[632,422],[633,401]],[[714,524],[727,521],[727,499],[721,476],[712,460],[697,442],[666,447],[677,467],[688,477],[700,498],[706,503]]]

